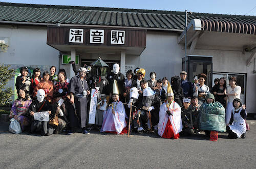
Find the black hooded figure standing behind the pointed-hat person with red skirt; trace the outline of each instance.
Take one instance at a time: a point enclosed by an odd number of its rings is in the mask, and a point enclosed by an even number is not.
[[[180,87],[180,77],[173,76],[170,79],[170,84],[172,85],[172,89],[174,92],[174,101],[178,103],[180,106],[182,106],[184,95],[183,95],[183,89]]]

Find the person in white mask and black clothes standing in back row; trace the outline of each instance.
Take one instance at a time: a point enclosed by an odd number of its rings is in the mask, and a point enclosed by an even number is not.
[[[119,92],[120,92],[120,96],[122,96],[122,94],[124,92],[124,86],[123,86],[123,84],[124,84],[124,75],[120,72],[120,66],[118,64],[113,65],[112,72],[108,74],[106,79],[108,79],[108,81],[109,81],[107,94],[112,95],[112,93],[113,93],[113,83],[114,83],[114,80],[116,80],[117,81],[117,86],[118,86],[118,89],[119,89]]]

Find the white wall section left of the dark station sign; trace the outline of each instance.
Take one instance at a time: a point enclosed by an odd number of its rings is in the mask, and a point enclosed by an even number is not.
[[[0,64],[10,64],[12,68],[37,65],[59,69],[58,50],[46,44],[47,27],[0,25],[0,40],[9,38],[7,52],[0,52]],[[19,65],[19,66],[18,66]],[[49,71],[49,70],[48,70]],[[14,78],[8,82],[14,89]]]

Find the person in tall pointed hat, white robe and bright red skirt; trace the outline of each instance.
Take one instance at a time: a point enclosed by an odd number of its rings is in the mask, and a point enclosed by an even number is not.
[[[181,107],[174,101],[174,93],[168,83],[167,100],[160,106],[159,110],[158,134],[162,138],[178,139],[182,127]]]

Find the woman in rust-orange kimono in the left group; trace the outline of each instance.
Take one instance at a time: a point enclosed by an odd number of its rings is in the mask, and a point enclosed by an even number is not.
[[[36,96],[36,94],[37,94],[37,91],[39,90],[39,89],[42,89],[42,90],[44,90],[45,91],[45,97],[46,97],[46,99],[49,101],[49,102],[51,102],[51,100],[53,99],[53,92],[54,92],[54,89],[53,89],[53,87],[54,87],[54,84],[53,84],[53,82],[52,81],[50,81],[49,79],[50,79],[50,74],[49,74],[49,72],[44,72],[43,74],[42,74],[42,81],[40,81],[38,84],[37,84],[37,86],[35,87],[35,89],[34,89],[34,97]]]

